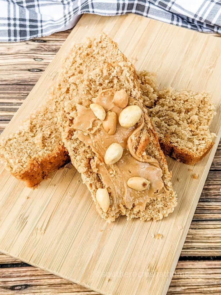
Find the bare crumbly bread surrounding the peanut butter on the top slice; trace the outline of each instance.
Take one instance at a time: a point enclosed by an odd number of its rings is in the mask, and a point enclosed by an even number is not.
[[[105,213],[95,198],[97,189],[103,187],[99,174],[92,168],[96,155],[77,138],[75,130],[69,128],[77,116],[76,104],[88,108],[100,91],[110,88],[125,89],[128,96],[143,103],[135,68],[108,36],[102,34],[93,40],[88,39],[85,43],[75,45],[65,60],[63,71],[52,93],[57,107],[60,108],[58,122],[62,140],[72,164],[88,186],[101,217],[109,222],[119,215],[126,215],[128,218],[139,217],[142,220],[162,219],[173,212],[177,199],[171,185],[171,173],[146,107],[143,107],[145,125],[137,142],[137,152],[146,150],[147,155],[159,162],[163,172],[162,180],[169,194],[153,197],[146,204],[146,208],[138,212],[134,212],[133,207],[125,208],[122,205],[121,209],[116,210],[110,205]],[[110,203],[113,197],[110,196]]]

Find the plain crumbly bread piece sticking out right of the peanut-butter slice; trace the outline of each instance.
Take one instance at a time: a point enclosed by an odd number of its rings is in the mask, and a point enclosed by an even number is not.
[[[208,92],[157,90],[156,74],[138,73],[144,103],[164,154],[194,164],[212,148],[215,107]]]

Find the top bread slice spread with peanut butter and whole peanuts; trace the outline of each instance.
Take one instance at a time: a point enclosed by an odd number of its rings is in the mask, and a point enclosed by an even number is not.
[[[116,91],[128,97],[125,108],[118,105]],[[102,34],[75,45],[52,97],[60,108],[62,140],[101,217],[108,222],[119,215],[157,220],[173,212],[171,173],[136,71],[116,43]],[[136,189],[140,186],[144,189]]]

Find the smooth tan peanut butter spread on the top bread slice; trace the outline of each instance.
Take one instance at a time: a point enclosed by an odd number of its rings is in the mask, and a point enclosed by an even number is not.
[[[123,110],[113,103],[115,90],[107,89],[93,99],[93,103],[99,104],[105,112],[111,111],[119,114]],[[129,98],[128,105],[139,105],[139,102]],[[144,114],[133,127],[121,127],[117,121],[116,132],[109,135],[90,108],[76,104],[77,116],[70,129],[74,129],[77,138],[92,148],[95,157],[91,160],[91,167],[98,173],[103,182],[103,187],[108,189],[110,196],[110,208],[125,212],[125,208],[144,210],[146,203],[153,197],[161,197],[169,193],[162,181],[162,170],[156,159],[146,155],[142,157],[136,154],[136,145],[144,126]],[[141,108],[142,109],[142,108]],[[104,160],[105,152],[112,143],[118,143],[123,147],[123,155],[120,160],[112,165],[107,165]],[[127,186],[127,181],[133,176],[140,176],[150,181],[147,189],[136,191]]]

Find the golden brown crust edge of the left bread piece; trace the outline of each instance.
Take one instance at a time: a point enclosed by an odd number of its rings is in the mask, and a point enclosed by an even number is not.
[[[29,163],[27,169],[22,173],[11,173],[17,179],[25,181],[28,187],[37,186],[49,173],[59,169],[70,161],[67,150],[62,146],[57,153],[47,155],[40,162],[37,160]]]

